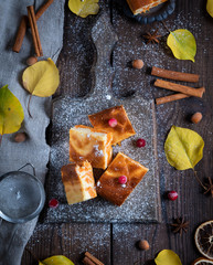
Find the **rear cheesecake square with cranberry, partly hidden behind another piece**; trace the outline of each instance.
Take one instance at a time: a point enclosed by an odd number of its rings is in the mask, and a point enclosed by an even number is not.
[[[124,106],[116,106],[100,113],[88,115],[95,129],[113,132],[113,145],[135,135],[135,130]]]

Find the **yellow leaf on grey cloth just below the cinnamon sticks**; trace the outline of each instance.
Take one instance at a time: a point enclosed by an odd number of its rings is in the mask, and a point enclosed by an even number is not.
[[[55,93],[60,84],[58,70],[51,59],[40,61],[23,72],[22,82],[30,94],[49,97]]]

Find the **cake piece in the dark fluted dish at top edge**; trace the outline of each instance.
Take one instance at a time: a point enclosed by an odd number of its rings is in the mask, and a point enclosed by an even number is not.
[[[145,13],[167,0],[127,0],[134,14]]]

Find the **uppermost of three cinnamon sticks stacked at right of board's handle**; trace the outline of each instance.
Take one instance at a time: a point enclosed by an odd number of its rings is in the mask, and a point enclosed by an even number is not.
[[[151,75],[168,78],[168,80],[184,81],[184,82],[192,82],[192,83],[199,82],[199,78],[200,78],[200,75],[196,75],[196,74],[163,70],[156,66],[152,67]]]

